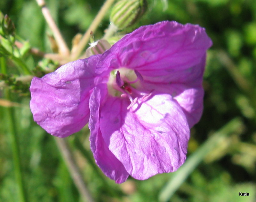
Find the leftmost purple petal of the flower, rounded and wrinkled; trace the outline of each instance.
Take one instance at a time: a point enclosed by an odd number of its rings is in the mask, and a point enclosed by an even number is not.
[[[101,79],[95,73],[98,59],[70,62],[41,79],[32,79],[30,109],[48,133],[63,138],[88,123],[90,93]]]

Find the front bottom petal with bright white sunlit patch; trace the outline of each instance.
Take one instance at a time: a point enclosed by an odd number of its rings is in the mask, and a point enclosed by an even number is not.
[[[127,99],[108,97],[100,130],[109,150],[134,178],[173,172],[185,161],[189,127],[171,95],[154,95],[128,111]]]

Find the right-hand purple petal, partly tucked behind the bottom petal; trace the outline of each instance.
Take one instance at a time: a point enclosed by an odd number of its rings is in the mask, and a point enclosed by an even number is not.
[[[172,95],[183,109],[191,128],[200,120],[203,113],[204,66],[205,55],[199,64],[185,71],[177,69],[168,76],[144,77],[140,89]]]

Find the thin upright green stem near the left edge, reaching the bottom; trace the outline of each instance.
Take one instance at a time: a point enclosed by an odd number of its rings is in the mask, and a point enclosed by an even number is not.
[[[4,58],[1,58],[1,71],[2,73],[6,73],[6,65],[4,63]],[[5,90],[5,97],[7,100],[11,101],[10,91],[8,89]],[[11,147],[12,147],[12,157],[13,157],[13,164],[14,164],[14,173],[16,177],[16,185],[18,190],[18,197],[20,202],[27,202],[27,195],[25,192],[24,180],[22,177],[21,171],[21,162],[20,162],[20,148],[19,148],[19,141],[18,141],[18,132],[16,128],[16,121],[14,116],[14,108],[9,107],[7,108],[7,118],[8,122],[10,123],[9,134],[11,140]]]

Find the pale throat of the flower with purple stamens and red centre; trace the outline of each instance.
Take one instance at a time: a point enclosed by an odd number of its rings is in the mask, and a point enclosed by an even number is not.
[[[138,97],[142,97],[142,101],[146,101],[151,96],[151,93],[147,94],[137,90],[141,82],[143,82],[143,77],[137,70],[125,67],[115,69],[109,75],[108,93],[114,97],[129,98],[131,104],[127,109],[130,109],[138,101]]]

